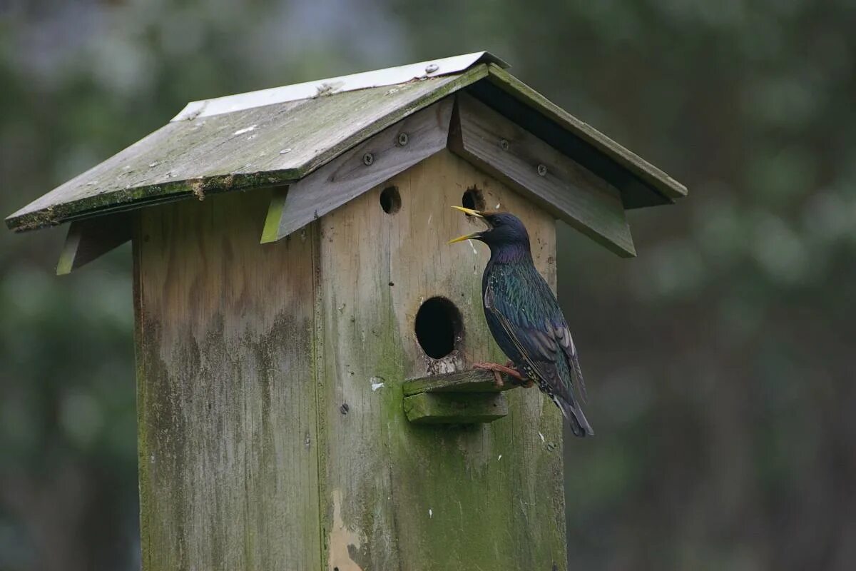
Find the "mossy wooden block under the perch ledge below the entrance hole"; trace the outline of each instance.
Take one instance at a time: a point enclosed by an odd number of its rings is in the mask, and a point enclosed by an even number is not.
[[[404,397],[407,420],[417,425],[474,425],[508,415],[498,393],[419,393]]]

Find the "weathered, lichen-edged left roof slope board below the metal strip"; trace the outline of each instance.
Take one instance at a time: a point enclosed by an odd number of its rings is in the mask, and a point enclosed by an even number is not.
[[[170,122],[6,223],[37,229],[158,201],[288,184],[486,75],[479,63],[461,74]]]

